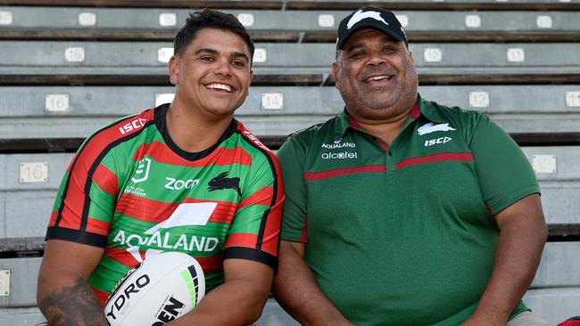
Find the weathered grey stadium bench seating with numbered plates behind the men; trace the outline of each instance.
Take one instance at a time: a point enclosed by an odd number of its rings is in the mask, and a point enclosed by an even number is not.
[[[576,0],[0,0],[0,324],[35,325],[54,194],[100,126],[170,102],[172,37],[193,7],[219,8],[256,43],[236,112],[264,143],[343,110],[330,76],[336,26],[392,9],[419,93],[482,110],[532,163],[549,242],[524,301],[556,324],[580,314],[580,4]],[[257,325],[297,325],[270,299]]]

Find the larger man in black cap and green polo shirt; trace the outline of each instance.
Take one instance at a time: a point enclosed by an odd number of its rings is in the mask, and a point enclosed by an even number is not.
[[[346,17],[332,73],[344,112],[278,151],[280,305],[304,325],[547,325],[521,302],[547,230],[518,145],[418,96],[393,12]]]

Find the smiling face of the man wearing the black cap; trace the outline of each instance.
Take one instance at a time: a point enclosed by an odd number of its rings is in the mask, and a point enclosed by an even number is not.
[[[332,73],[353,118],[395,118],[406,114],[417,101],[412,54],[403,42],[375,29],[360,29],[347,39]]]

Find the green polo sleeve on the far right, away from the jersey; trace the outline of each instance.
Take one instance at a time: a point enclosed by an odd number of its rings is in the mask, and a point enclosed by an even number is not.
[[[510,135],[485,115],[476,122],[470,150],[485,203],[492,215],[540,193],[534,170]]]

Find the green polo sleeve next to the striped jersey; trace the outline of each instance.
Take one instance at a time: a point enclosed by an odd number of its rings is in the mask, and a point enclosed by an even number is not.
[[[292,135],[277,153],[285,180],[282,240],[306,242],[307,190],[303,178],[305,146]]]

